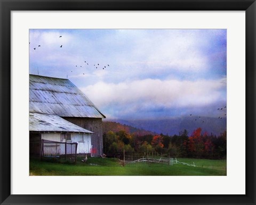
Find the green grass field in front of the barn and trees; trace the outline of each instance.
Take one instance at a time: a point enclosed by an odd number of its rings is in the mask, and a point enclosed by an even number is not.
[[[227,160],[177,159],[184,163],[166,165],[153,163],[127,164],[121,166],[114,158],[88,158],[86,163],[77,159],[77,164],[61,164],[30,159],[29,174],[51,176],[220,176],[227,175]]]

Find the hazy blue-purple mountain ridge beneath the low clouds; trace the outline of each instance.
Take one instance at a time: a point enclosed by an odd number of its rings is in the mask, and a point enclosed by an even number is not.
[[[196,120],[195,120],[196,119]],[[179,132],[187,130],[189,135],[197,129],[202,128],[202,132],[219,136],[227,130],[227,118],[224,117],[177,117],[170,119],[115,119],[115,122],[125,124],[126,126],[136,127],[137,129],[148,130],[155,133],[163,133],[168,135],[179,135]],[[204,121],[204,122],[203,122]]]

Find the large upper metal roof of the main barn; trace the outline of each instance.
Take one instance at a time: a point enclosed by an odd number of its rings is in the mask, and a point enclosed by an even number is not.
[[[29,75],[29,112],[61,117],[105,118],[68,79]]]

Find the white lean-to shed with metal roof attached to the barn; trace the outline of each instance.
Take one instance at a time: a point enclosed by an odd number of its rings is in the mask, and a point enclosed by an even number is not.
[[[40,152],[40,143],[38,141],[52,141],[61,143],[47,143],[43,147],[44,155],[64,155],[68,153],[85,154],[90,153],[91,149],[91,135],[93,132],[83,129],[73,123],[66,121],[65,119],[57,115],[47,115],[38,113],[29,113],[29,146],[30,154],[36,155]],[[71,146],[66,146],[65,142],[69,145],[71,143],[77,143],[76,150]],[[67,148],[69,150],[67,150]]]

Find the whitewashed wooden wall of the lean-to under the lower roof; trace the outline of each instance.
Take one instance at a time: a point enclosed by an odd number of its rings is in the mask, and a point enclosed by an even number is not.
[[[84,136],[84,140],[80,141],[80,136]],[[50,140],[50,141],[61,141],[61,134],[60,133],[42,133],[43,140]],[[71,133],[71,141],[77,142],[77,153],[90,153],[91,149],[91,136],[90,134],[78,134],[78,133]],[[63,140],[62,142],[65,142]],[[75,145],[67,146],[67,154],[75,153]],[[65,155],[65,144],[56,144],[56,143],[45,143],[44,144],[44,155],[54,156],[54,155]]]

